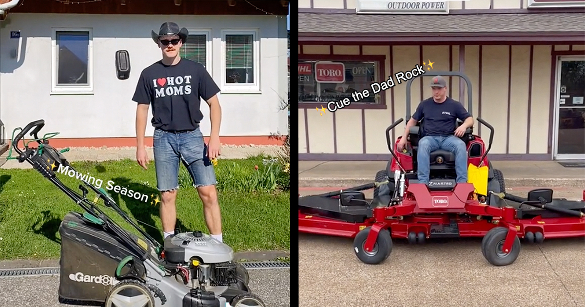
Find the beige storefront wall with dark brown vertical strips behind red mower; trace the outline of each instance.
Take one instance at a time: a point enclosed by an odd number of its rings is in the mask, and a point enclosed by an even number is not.
[[[390,46],[363,46],[364,55],[384,55],[386,61],[384,70],[386,76],[398,71],[407,71],[420,63],[419,46],[393,46],[393,71],[390,71]],[[556,50],[565,50],[563,46],[555,46]],[[549,133],[549,104],[550,104],[550,61],[552,46],[534,46],[534,61],[532,63],[532,95],[531,113],[528,115],[529,92],[529,65],[530,46],[512,46],[511,75],[508,75],[508,46],[482,46],[482,57],[479,58],[479,46],[465,46],[464,73],[472,81],[473,89],[473,117],[481,118],[494,126],[494,143],[491,153],[505,154],[507,147],[508,128],[508,78],[510,87],[510,140],[508,153],[525,154],[528,141],[528,116],[530,116],[530,144],[531,154],[542,154],[548,151]],[[573,46],[573,50],[585,50],[585,46]],[[329,54],[329,46],[304,46],[305,54]],[[569,46],[566,46],[569,50]],[[333,46],[334,54],[359,54],[359,46]],[[434,62],[433,70],[449,70],[449,46],[423,46],[422,58],[425,63]],[[479,83],[479,69],[481,61],[481,84]],[[459,46],[452,46],[452,70],[459,70]],[[432,76],[433,70],[426,74]],[[411,114],[417,108],[421,99],[428,98],[431,90],[426,84],[430,78],[424,77],[423,97],[420,95],[420,81],[417,78],[411,87]],[[395,78],[394,78],[395,80]],[[395,80],[396,81],[396,80]],[[459,100],[459,78],[453,77],[452,93],[454,99]],[[479,89],[481,87],[481,110],[479,109]],[[464,91],[465,106],[467,108],[467,89]],[[384,131],[392,122],[391,102],[392,91],[384,91],[387,109],[342,109],[335,112],[336,136],[338,153],[362,153],[362,112],[365,118],[366,153],[388,153]],[[394,119],[405,116],[406,84],[396,83],[394,87]],[[311,153],[334,153],[333,143],[333,113],[321,112],[315,109],[307,110],[309,129],[309,146]],[[395,137],[404,129],[405,122],[395,128]],[[479,123],[474,125],[474,132],[479,132]],[[304,110],[299,110],[299,152],[306,153]],[[490,131],[481,127],[480,136],[488,140]]]

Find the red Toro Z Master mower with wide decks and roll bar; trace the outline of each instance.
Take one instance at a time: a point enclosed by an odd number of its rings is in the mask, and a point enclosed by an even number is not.
[[[467,82],[467,111],[472,113],[472,86],[466,75],[436,72]],[[407,82],[407,120],[410,115],[410,87]],[[378,264],[392,251],[394,239],[424,243],[439,237],[483,237],[481,253],[493,265],[513,263],[520,253],[520,239],[541,243],[549,238],[585,237],[585,190],[583,200],[553,198],[552,189],[535,189],[526,198],[507,194],[501,171],[491,167],[486,146],[473,129],[461,139],[467,145],[469,181],[456,184],[455,155],[449,151],[431,153],[429,185],[417,181],[417,145],[422,123],[409,131],[407,148],[395,152],[390,130],[386,129],[388,149],[393,158],[386,170],[378,171],[373,183],[298,198],[298,230],[304,233],[350,237],[359,260]],[[424,120],[423,120],[424,122]],[[473,174],[472,174],[473,172]],[[483,175],[482,175],[483,174]],[[374,198],[362,191],[374,188]]]

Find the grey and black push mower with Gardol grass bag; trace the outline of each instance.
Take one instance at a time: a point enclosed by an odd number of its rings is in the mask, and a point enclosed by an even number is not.
[[[105,307],[264,307],[259,296],[248,288],[246,268],[233,261],[233,250],[208,234],[184,232],[164,240],[154,240],[137,226],[103,188],[85,180],[79,188],[82,195],[64,185],[56,170],[73,167],[49,145],[47,133],[37,133],[44,120],[29,123],[12,133],[12,148],[20,163],[27,161],[49,181],[70,196],[84,213],[69,212],[59,227],[61,260],[59,302],[73,305]],[[14,137],[16,130],[20,133]],[[35,139],[18,143],[29,130]],[[29,147],[36,141],[38,146]],[[88,187],[97,194],[87,198]],[[141,236],[130,233],[113,222],[97,202],[113,209],[130,223]]]

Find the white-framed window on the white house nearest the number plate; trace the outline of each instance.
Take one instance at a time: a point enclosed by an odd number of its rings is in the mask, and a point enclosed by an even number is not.
[[[91,30],[54,29],[52,54],[53,94],[93,91]]]

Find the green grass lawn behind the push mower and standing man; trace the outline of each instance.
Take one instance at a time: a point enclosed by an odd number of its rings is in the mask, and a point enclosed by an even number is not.
[[[290,250],[290,192],[280,189],[232,189],[232,183],[237,186],[236,182],[232,182],[235,179],[222,175],[233,175],[234,172],[228,168],[233,165],[252,174],[254,165],[259,163],[262,171],[264,167],[261,165],[261,157],[219,160],[216,166],[218,181],[221,181],[218,193],[222,211],[223,242],[236,252]],[[102,188],[109,192],[122,210],[130,218],[152,225],[154,228],[137,222],[154,239],[162,241],[159,206],[152,204],[151,197],[153,195],[156,198],[158,194],[154,163],[150,163],[148,170],[143,170],[133,160],[72,164],[78,173],[102,180]],[[77,178],[60,173],[57,177],[74,191],[80,191],[78,186],[81,181]],[[109,185],[108,181],[111,181]],[[122,195],[122,191],[111,189],[115,185],[140,192],[147,195],[148,199],[144,202],[143,199]],[[88,194],[90,201],[94,197],[94,192]],[[101,201],[99,203],[102,204]],[[125,229],[132,230],[132,226],[112,209],[103,205],[100,209]],[[61,219],[69,211],[82,212],[83,209],[37,171],[1,170],[0,260],[59,258],[59,226]],[[178,192],[177,219],[177,227],[182,231],[201,230],[209,233],[197,190],[189,184],[182,184]]]

